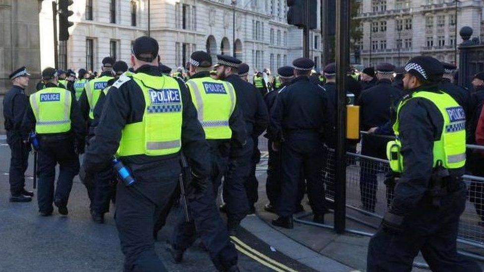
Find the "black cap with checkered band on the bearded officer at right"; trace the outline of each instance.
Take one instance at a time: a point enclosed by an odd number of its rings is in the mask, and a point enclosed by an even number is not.
[[[442,79],[444,66],[431,56],[412,57],[405,65],[405,71],[423,81],[438,82]]]

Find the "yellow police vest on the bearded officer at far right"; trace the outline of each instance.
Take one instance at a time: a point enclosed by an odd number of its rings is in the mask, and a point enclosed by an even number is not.
[[[466,163],[466,114],[464,109],[448,94],[440,92],[418,91],[409,99],[400,102],[397,109],[397,121],[393,131],[397,137],[387,144],[387,157],[390,168],[395,172],[404,169],[403,157],[400,153],[398,115],[405,104],[413,98],[424,98],[432,102],[442,114],[444,125],[440,139],[433,142],[433,167],[442,162],[444,168],[453,169],[463,167]]]

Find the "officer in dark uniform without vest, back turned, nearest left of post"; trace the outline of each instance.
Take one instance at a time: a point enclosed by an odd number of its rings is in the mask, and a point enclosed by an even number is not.
[[[282,182],[276,210],[275,226],[293,228],[293,214],[298,200],[298,185],[303,176],[307,181],[313,221],[324,222],[324,186],[321,169],[324,165],[323,142],[320,133],[328,129],[326,115],[328,99],[320,86],[308,79],[314,62],[308,58],[293,61],[296,78],[277,95],[271,112],[271,133],[281,144]]]

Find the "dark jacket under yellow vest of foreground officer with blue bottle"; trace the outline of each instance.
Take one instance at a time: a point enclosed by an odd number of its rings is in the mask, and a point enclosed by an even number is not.
[[[136,73],[146,73],[153,76],[162,76],[157,66],[143,65]],[[208,145],[205,133],[198,122],[196,109],[191,102],[190,94],[185,84],[177,79],[182,93],[182,150],[189,160],[192,171],[199,177],[208,176],[209,165],[206,161]],[[112,86],[105,98],[99,123],[94,131],[94,137],[89,141],[84,155],[86,171],[96,171],[109,167],[112,156],[118,150],[121,140],[121,131],[126,124],[141,122],[146,110],[145,98],[134,80],[129,80],[120,88]],[[123,163],[129,165],[136,176],[137,172],[150,173],[160,171],[159,167],[171,166],[173,173],[180,170],[180,154],[166,156],[134,155],[123,157]],[[174,163],[171,163],[173,161]],[[153,172],[153,173],[154,173]]]

